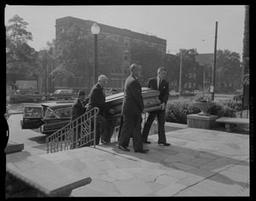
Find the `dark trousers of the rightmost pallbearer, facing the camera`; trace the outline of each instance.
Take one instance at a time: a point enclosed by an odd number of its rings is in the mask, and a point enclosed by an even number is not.
[[[154,118],[157,117],[158,121],[158,142],[166,142],[166,110],[159,110],[154,112],[149,112],[146,123],[143,127],[143,141],[148,141],[148,133],[151,128]]]

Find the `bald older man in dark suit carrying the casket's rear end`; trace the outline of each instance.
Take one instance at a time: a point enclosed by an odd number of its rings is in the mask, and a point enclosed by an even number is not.
[[[90,99],[87,106],[88,111],[93,107],[99,108],[99,113],[96,117],[96,145],[99,144],[102,135],[107,135],[105,134],[107,128],[105,113],[110,112],[111,114],[114,114],[115,112],[113,109],[109,108],[108,104],[106,103],[106,96],[103,87],[107,82],[108,78],[105,75],[99,76],[98,83],[96,83],[90,90]],[[102,141],[102,143],[105,142],[106,141]]]

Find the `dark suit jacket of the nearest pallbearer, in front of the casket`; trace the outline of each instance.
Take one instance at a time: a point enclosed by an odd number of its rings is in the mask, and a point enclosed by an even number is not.
[[[130,75],[125,80],[122,114],[137,116],[144,109],[142,87],[137,78]]]

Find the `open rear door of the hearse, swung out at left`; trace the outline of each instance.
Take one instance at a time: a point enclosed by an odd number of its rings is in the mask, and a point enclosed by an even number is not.
[[[20,121],[21,129],[38,129],[44,121],[43,106],[40,104],[24,105],[24,112],[22,120]]]

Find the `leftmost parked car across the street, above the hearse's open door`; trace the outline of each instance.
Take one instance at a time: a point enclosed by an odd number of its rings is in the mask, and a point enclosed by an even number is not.
[[[37,92],[32,92],[29,90],[16,90],[13,95],[9,95],[9,102],[37,102],[42,100],[43,95]]]

